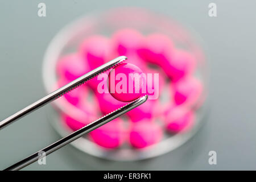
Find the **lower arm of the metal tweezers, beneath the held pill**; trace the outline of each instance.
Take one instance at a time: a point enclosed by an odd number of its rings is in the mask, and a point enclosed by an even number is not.
[[[34,163],[36,160],[40,158],[40,152],[45,152],[46,155],[51,154],[53,151],[56,151],[57,149],[65,146],[66,144],[72,142],[73,140],[76,140],[77,138],[82,137],[82,135],[85,135],[89,133],[90,131],[97,129],[97,127],[100,127],[102,125],[105,125],[109,121],[112,121],[113,119],[119,117],[122,114],[127,113],[127,111],[130,111],[131,109],[134,109],[135,107],[143,104],[147,101],[147,95],[143,96],[141,98],[138,98],[137,100],[130,102],[129,104],[113,111],[112,113],[109,113],[105,115],[104,117],[90,123],[89,125],[86,125],[85,127],[82,127],[80,130],[77,130],[73,132],[72,134],[68,135],[67,137],[64,137],[60,139],[59,141],[52,143],[46,148],[43,148],[42,150],[36,152],[35,154],[28,156],[26,159],[21,160],[20,162],[14,164],[13,166],[10,166],[9,168],[6,168],[5,170],[19,170],[23,167],[28,166],[31,163]]]

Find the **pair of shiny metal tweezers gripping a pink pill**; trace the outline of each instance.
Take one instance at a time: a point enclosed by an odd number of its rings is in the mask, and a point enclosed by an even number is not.
[[[86,81],[90,80],[91,78],[99,75],[100,73],[115,68],[119,63],[122,63],[125,61],[127,57],[125,56],[119,56],[108,63],[101,65],[100,67],[93,69],[93,71],[90,71],[86,73],[85,75],[77,78],[76,80],[69,82],[69,84],[61,87],[60,89],[55,90],[54,92],[48,94],[46,97],[43,97],[42,99],[34,102],[33,104],[25,107],[24,109],[18,111],[17,113],[11,115],[10,117],[4,119],[0,122],[0,129],[3,127],[11,124],[12,122],[16,121],[19,118],[22,118],[24,115],[31,113],[32,111],[35,111],[36,109],[39,109],[40,107],[48,104],[49,102],[56,100],[56,98],[59,98],[63,96],[65,93],[70,92],[71,90],[77,88],[78,86],[84,84]],[[77,130],[73,132],[72,134],[68,135],[67,137],[64,137],[60,139],[59,141],[52,143],[46,148],[43,148],[42,150],[36,152],[35,154],[28,156],[26,159],[21,160],[20,162],[14,164],[13,166],[10,166],[9,168],[6,168],[5,170],[19,170],[23,167],[28,166],[31,163],[34,163],[36,160],[42,158],[43,155],[51,154],[51,152],[56,151],[57,149],[65,146],[66,144],[72,142],[73,140],[76,140],[79,137],[82,137],[84,134],[89,133],[90,131],[97,129],[97,127],[100,127],[109,121],[112,121],[113,119],[119,117],[122,114],[127,113],[127,111],[134,109],[135,107],[143,104],[147,100],[147,95],[138,98],[137,100],[130,102],[129,104],[113,111],[112,113],[109,113],[105,115],[104,117],[97,119],[96,121],[90,123],[89,125],[86,125],[82,127],[80,130]]]

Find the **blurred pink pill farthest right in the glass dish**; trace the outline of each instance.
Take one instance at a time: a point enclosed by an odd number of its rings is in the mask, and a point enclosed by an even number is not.
[[[177,105],[195,105],[203,92],[203,85],[197,78],[185,77],[174,84],[174,101]]]

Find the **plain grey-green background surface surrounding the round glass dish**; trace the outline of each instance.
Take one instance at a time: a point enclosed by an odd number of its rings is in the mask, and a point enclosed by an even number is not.
[[[37,15],[45,2],[47,17]],[[208,16],[210,2],[217,18]],[[210,114],[203,128],[177,150],[141,162],[94,158],[71,146],[47,165],[24,169],[256,169],[255,1],[10,1],[0,6],[0,118],[45,95],[42,60],[53,36],[77,17],[110,7],[138,6],[170,15],[203,38],[210,58]],[[59,139],[42,108],[0,131],[0,169]],[[217,165],[208,152],[217,152]],[[77,153],[77,154],[76,154]]]

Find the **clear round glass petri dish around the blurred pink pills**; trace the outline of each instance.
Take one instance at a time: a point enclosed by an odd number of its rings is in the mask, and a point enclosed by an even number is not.
[[[204,90],[200,100],[197,101],[195,123],[192,129],[186,133],[164,135],[160,142],[141,149],[122,146],[115,150],[108,150],[98,146],[86,137],[81,137],[71,143],[78,150],[90,155],[122,161],[152,158],[175,150],[175,148],[181,146],[195,135],[204,123],[208,111],[208,67],[200,36],[195,31],[192,31],[191,28],[181,26],[180,23],[175,22],[175,20],[168,16],[133,7],[110,9],[100,13],[85,15],[68,24],[57,33],[49,44],[43,60],[43,82],[46,92],[51,93],[56,89],[56,64],[61,56],[76,51],[82,40],[89,36],[95,34],[111,36],[113,32],[127,27],[134,28],[142,32],[142,34],[160,32],[169,36],[176,47],[191,52],[197,60],[195,75],[203,82]],[[54,109],[48,110],[49,122],[61,137],[70,134],[72,130],[61,122],[59,113],[66,113],[71,115],[72,118],[76,118],[77,115],[89,117],[79,108],[65,100],[56,100],[52,102],[52,106]]]

